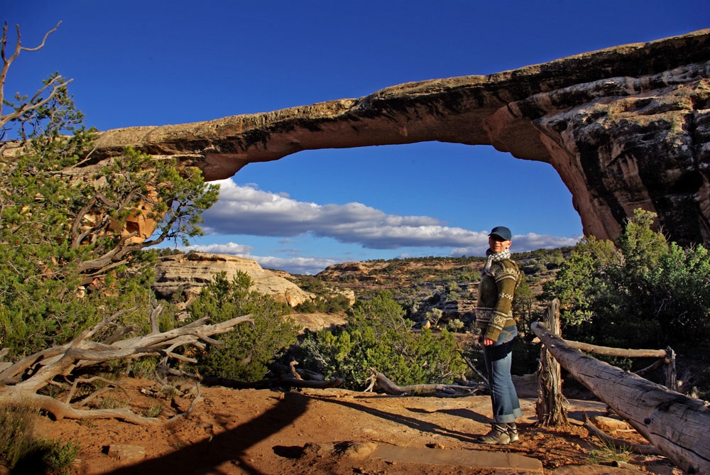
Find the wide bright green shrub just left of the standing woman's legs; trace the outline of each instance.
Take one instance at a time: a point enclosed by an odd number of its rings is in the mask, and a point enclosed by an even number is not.
[[[453,334],[412,332],[413,322],[404,314],[388,291],[358,300],[345,327],[311,334],[302,342],[305,367],[343,378],[343,386],[351,389],[361,389],[369,368],[399,385],[450,383],[463,373]]]

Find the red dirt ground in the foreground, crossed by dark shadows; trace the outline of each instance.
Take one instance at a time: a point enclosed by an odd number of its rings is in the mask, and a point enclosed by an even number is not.
[[[163,409],[158,418],[162,420],[187,410],[195,398],[195,388],[187,384],[184,393],[167,397],[155,381],[126,379],[122,383],[125,392],[112,390],[114,401],[143,414],[160,403]],[[403,397],[342,389],[282,392],[219,386],[202,387],[200,394],[202,399],[189,417],[168,425],[42,417],[37,429],[49,439],[79,442],[82,448],[73,469],[82,475],[682,473],[663,457],[635,457],[624,468],[592,464],[590,455],[599,449],[599,441],[589,437],[580,421],[583,412],[590,417],[604,415],[606,408],[590,401],[571,400],[571,427],[547,430],[535,426],[535,400],[522,399],[520,442],[491,447],[475,442],[476,435],[488,430],[488,396]],[[648,443],[635,432],[630,438]],[[108,449],[116,444],[141,447],[145,457],[111,457]],[[432,450],[519,454],[540,460],[544,471],[369,457],[372,447],[387,444],[415,447],[423,454]]]

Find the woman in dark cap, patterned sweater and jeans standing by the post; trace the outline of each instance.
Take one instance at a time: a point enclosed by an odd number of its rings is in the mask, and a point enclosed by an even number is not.
[[[481,444],[517,442],[515,418],[523,415],[510,376],[513,339],[518,335],[513,319],[513,295],[523,273],[510,259],[510,239],[510,229],[506,226],[496,226],[488,234],[486,266],[481,272],[476,301],[476,327],[481,330],[479,343],[484,348],[493,405],[491,431],[479,437]]]

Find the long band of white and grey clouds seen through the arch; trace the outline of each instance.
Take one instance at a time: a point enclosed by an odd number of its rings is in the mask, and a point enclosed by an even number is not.
[[[432,217],[386,214],[357,202],[299,202],[285,193],[258,190],[256,185],[239,186],[232,180],[222,180],[219,184],[219,201],[204,213],[203,228],[207,234],[282,237],[284,244],[290,241],[290,237],[310,234],[368,249],[444,248],[450,249],[451,256],[484,256],[488,249],[488,231],[444,226]],[[579,239],[581,236],[565,238],[550,234],[518,234],[513,236],[511,251],[574,246]],[[234,242],[196,245],[189,249],[251,258],[263,268],[297,274],[319,273],[327,266],[342,262],[327,257],[293,256],[299,252],[293,248],[278,251],[282,255],[290,253],[291,256],[287,257],[252,256],[251,246]]]

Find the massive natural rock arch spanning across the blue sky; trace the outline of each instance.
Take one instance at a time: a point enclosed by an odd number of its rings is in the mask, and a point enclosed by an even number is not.
[[[670,239],[701,243],[710,241],[709,78],[710,30],[703,30],[359,99],[116,129],[102,134],[94,156],[133,146],[218,180],[246,163],[317,148],[492,145],[550,163],[572,192],[585,234],[614,239],[642,207],[657,212]]]

